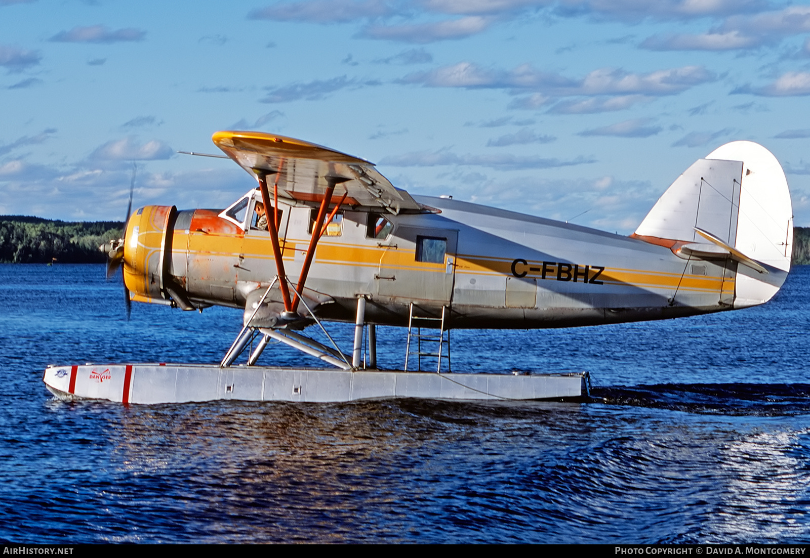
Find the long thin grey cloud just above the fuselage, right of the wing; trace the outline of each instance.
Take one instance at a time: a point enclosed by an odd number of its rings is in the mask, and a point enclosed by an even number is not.
[[[489,168],[515,170],[522,168],[555,168],[568,167],[577,164],[595,163],[592,157],[579,156],[573,160],[559,160],[534,156],[516,155],[458,155],[449,149],[439,151],[414,151],[404,155],[390,155],[384,157],[379,164],[392,167],[434,167],[440,165],[475,165]]]

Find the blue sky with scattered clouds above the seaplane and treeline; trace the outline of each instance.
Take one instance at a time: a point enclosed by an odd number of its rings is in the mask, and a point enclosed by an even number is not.
[[[750,139],[810,226],[810,4],[0,0],[0,214],[123,219],[252,185],[216,130],[358,155],[452,194],[629,233]]]

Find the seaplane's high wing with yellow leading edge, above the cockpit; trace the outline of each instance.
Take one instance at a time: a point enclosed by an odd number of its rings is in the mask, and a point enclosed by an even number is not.
[[[348,205],[394,215],[427,209],[405,190],[395,188],[369,161],[329,147],[262,132],[222,131],[211,139],[248,173],[255,176],[256,170],[265,171],[268,185],[278,185],[279,198],[320,202],[326,177],[337,177],[334,196],[340,198],[346,192]]]

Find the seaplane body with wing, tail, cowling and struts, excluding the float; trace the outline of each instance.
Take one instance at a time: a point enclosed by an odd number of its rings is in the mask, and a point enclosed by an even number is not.
[[[633,235],[620,236],[411,197],[367,161],[292,138],[218,132],[214,141],[258,186],[221,211],[142,207],[109,249],[131,300],[243,309],[245,328],[223,366],[254,332],[313,354],[295,332],[315,322],[410,332],[416,317],[441,333],[738,309],[769,300],[790,270],[787,181],[756,143],[698,160]],[[356,340],[351,362],[315,352],[351,372],[358,350]]]

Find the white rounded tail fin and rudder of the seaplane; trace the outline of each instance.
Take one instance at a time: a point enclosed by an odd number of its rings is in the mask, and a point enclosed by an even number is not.
[[[770,270],[738,267],[736,308],[770,300],[791,269],[793,248],[791,193],[776,157],[753,142],[718,147],[672,183],[636,234],[706,242],[696,228]]]

